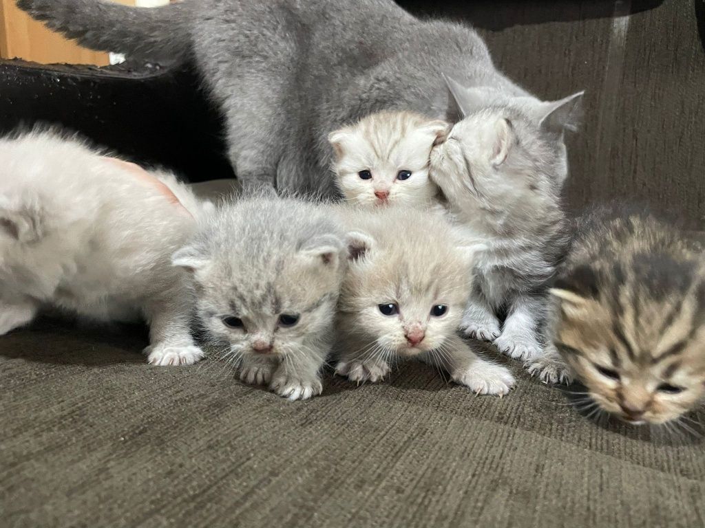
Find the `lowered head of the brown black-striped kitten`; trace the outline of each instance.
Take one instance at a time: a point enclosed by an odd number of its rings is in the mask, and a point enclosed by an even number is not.
[[[602,410],[660,424],[705,396],[702,274],[694,260],[642,254],[626,269],[582,265],[558,279],[556,345]]]

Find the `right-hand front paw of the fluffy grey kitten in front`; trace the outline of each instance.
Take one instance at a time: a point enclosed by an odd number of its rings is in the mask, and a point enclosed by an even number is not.
[[[282,398],[291,401],[307,400],[323,391],[321,367],[327,353],[298,350],[288,353],[272,375],[269,388]]]

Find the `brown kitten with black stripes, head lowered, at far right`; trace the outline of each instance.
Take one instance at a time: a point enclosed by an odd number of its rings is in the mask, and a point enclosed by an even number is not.
[[[572,226],[551,289],[558,351],[532,370],[577,377],[601,410],[659,424],[705,396],[704,247],[646,213],[598,208]]]

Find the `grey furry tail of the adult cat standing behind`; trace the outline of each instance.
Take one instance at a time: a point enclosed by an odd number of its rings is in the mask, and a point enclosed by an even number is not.
[[[147,58],[180,58],[190,42],[185,22],[190,2],[156,8],[106,0],[17,0],[17,6],[49,29],[97,51]]]

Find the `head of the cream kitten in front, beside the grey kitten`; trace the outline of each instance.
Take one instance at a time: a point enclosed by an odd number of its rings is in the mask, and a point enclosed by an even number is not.
[[[384,208],[353,225],[359,231],[348,234],[341,326],[388,355],[442,351],[470,294],[474,248],[442,218],[420,211]]]

